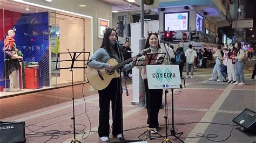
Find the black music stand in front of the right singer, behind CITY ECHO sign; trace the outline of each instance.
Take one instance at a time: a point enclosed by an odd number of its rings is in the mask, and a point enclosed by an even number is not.
[[[165,54],[166,53],[150,53],[150,54],[146,54],[145,55],[145,59],[138,59],[138,60],[136,59],[136,61],[138,61],[138,62],[135,64],[135,66],[161,65],[165,60],[167,60],[167,59],[164,59]],[[158,56],[158,55],[160,55],[160,56]],[[147,112],[149,113],[149,118],[150,118],[150,95],[149,95],[149,107],[147,107],[147,110],[149,110]],[[149,125],[150,125],[150,123],[149,123]],[[140,134],[139,137],[141,137],[143,134],[145,134],[147,132],[144,140],[146,140],[147,138],[151,138],[151,131],[153,131],[153,130],[152,130],[151,127],[149,127],[149,128],[147,128],[147,130],[145,132]],[[157,133],[155,131],[153,131],[153,132],[158,134],[158,135],[160,135],[161,137],[163,137],[161,134],[159,134],[159,133]]]

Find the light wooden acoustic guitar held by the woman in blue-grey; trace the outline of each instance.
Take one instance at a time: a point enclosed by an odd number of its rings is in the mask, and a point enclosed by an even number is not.
[[[150,48],[146,48],[142,51],[142,53],[139,53],[137,56],[142,56],[150,52],[151,52]],[[107,69],[96,69],[96,68],[87,66],[87,69],[85,71],[87,80],[89,81],[89,83],[94,89],[103,90],[107,87],[107,85],[109,85],[109,83],[113,78],[118,77],[117,69],[119,68],[119,66],[132,62],[132,59],[134,57],[136,56],[133,56],[132,58],[127,59],[122,63],[118,63],[118,61],[113,58],[109,59],[106,63],[113,66],[112,71],[109,71]]]

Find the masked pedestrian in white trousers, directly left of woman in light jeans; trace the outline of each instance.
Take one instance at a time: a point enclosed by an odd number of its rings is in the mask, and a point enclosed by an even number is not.
[[[227,56],[227,77],[228,77],[227,83],[233,84],[237,82],[237,80],[235,76],[235,59],[232,59],[231,56],[235,55],[236,48],[234,47],[233,42],[228,46],[228,48],[229,50],[228,50],[228,56]]]

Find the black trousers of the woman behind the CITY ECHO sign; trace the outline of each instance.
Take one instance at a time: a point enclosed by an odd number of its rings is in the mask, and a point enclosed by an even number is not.
[[[162,104],[163,89],[149,89],[147,79],[144,80],[147,105],[147,124],[151,128],[159,127],[158,113]]]

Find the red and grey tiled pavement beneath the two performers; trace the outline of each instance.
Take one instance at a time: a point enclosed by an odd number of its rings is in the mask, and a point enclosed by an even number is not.
[[[126,140],[138,139],[138,136],[147,130],[146,128],[146,109],[131,105],[132,84],[129,83],[130,96],[123,96],[123,117],[124,117],[124,136]],[[236,117],[245,108],[256,111],[256,87],[255,81],[246,79],[247,85],[228,85],[221,82],[207,81],[207,78],[197,77],[186,79],[186,88],[174,90],[174,121],[175,129],[183,132],[180,135],[185,142],[212,142],[206,138],[187,138],[195,137],[197,133],[218,134],[217,138],[212,140],[223,140],[228,137],[232,126],[193,123],[197,121],[206,121],[211,123],[233,124],[232,119]],[[82,95],[83,85],[75,86],[75,113],[76,113],[76,138],[82,142],[100,142],[98,138],[98,95],[97,91],[92,89],[90,84],[85,84],[83,91],[85,102]],[[17,121],[24,120],[28,128],[25,128],[27,142],[70,142],[73,139],[72,134],[72,88],[59,88],[54,90],[36,92],[33,94],[19,95],[0,99],[1,110],[0,120]],[[85,104],[86,103],[86,104]],[[171,92],[167,95],[168,117],[171,124]],[[85,138],[90,131],[91,134]],[[165,134],[165,110],[159,112],[159,133]],[[112,121],[112,120],[111,120]],[[110,121],[110,123],[111,123]],[[85,128],[85,129],[84,129]],[[81,133],[82,130],[86,132]],[[131,129],[131,130],[130,130]],[[171,125],[168,133],[170,134]],[[71,131],[64,132],[65,135],[55,134],[55,136],[42,136],[36,132],[59,130]],[[128,130],[128,131],[127,131]],[[32,132],[34,131],[34,132]],[[53,131],[52,131],[53,132]],[[67,134],[69,133],[69,134]],[[35,137],[37,136],[37,137]],[[144,139],[145,135],[141,137]],[[172,142],[178,142],[173,137],[169,138]],[[112,138],[111,141],[118,141]],[[161,142],[163,138],[146,140],[147,142]],[[239,126],[234,126],[231,137],[224,142],[253,142],[256,141],[256,135],[239,130]]]

